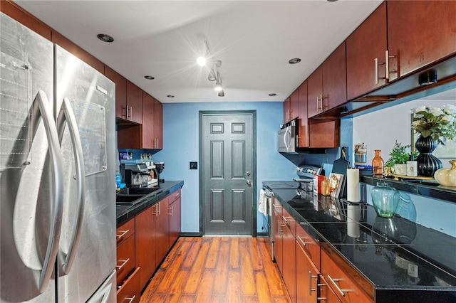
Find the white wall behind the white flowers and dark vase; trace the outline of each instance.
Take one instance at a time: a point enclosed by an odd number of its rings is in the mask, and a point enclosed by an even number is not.
[[[456,97],[455,100],[413,100],[383,110],[370,112],[366,115],[354,117],[353,144],[363,142],[367,144],[368,165],[371,165],[374,149],[381,149],[380,154],[383,161],[386,162],[390,158],[389,154],[394,147],[396,139],[403,145],[411,144],[410,124],[412,121],[411,110],[413,108],[420,105],[442,107],[448,103],[456,105]],[[415,140],[416,139],[418,139],[418,137],[415,137]],[[440,146],[437,147],[437,149],[440,148]],[[353,151],[353,147],[351,150]],[[450,159],[441,160],[443,167],[451,167],[448,163]]]

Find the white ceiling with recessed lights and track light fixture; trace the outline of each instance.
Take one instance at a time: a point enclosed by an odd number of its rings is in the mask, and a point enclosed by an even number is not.
[[[160,102],[219,102],[283,101],[381,0],[16,3]],[[196,63],[206,38],[224,97]]]

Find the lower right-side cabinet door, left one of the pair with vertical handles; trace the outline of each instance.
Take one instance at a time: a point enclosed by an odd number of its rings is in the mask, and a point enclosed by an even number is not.
[[[296,240],[296,302],[317,302],[319,274],[302,244]]]

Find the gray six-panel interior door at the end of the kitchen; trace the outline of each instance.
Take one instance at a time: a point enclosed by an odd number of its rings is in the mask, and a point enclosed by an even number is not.
[[[252,235],[255,112],[200,112],[204,235]]]

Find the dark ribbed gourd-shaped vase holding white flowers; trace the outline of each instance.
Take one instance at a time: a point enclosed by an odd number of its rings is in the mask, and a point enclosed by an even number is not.
[[[442,168],[442,161],[432,155],[432,151],[437,147],[437,142],[430,136],[423,137],[420,135],[415,142],[415,147],[420,151],[420,155],[416,159],[418,176],[434,176],[435,171]]]

